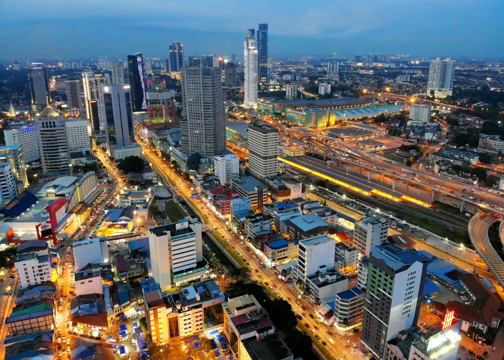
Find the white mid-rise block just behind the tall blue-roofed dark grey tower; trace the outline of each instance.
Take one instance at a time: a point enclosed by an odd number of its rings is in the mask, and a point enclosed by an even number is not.
[[[387,240],[389,222],[385,217],[369,216],[355,221],[353,245],[362,257],[369,256],[371,248]]]

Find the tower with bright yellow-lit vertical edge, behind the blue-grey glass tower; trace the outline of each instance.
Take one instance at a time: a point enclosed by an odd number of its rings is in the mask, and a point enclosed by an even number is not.
[[[101,86],[108,84],[108,81],[109,79],[101,74],[82,73],[86,116],[95,134],[105,130],[105,108],[103,106]]]

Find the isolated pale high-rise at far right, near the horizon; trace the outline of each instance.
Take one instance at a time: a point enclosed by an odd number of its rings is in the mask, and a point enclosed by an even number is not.
[[[453,94],[455,78],[455,60],[436,57],[430,60],[427,79],[427,95],[434,92],[435,97],[447,97]]]

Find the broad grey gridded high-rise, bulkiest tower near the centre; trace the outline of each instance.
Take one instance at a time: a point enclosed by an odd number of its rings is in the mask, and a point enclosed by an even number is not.
[[[224,96],[219,68],[182,68],[182,153],[213,158],[226,150]]]

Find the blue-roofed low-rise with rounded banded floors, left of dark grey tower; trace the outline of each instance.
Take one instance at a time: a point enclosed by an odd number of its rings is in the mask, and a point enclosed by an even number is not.
[[[358,287],[336,294],[334,316],[338,330],[348,332],[362,324],[365,293]]]

